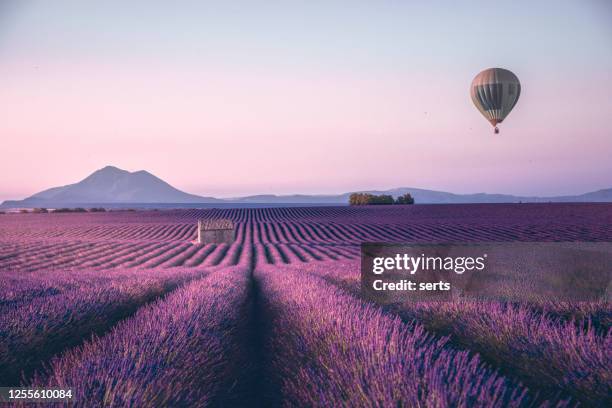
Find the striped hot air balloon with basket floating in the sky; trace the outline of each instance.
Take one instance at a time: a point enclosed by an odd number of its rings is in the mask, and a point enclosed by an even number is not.
[[[470,94],[476,108],[493,125],[497,134],[497,125],[508,116],[521,95],[521,83],[507,69],[489,68],[476,75]]]

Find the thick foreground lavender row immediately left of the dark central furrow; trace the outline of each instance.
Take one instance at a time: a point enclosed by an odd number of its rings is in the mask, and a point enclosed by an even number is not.
[[[231,404],[248,371],[248,292],[246,269],[217,270],[54,359],[33,384],[71,387],[77,407]]]

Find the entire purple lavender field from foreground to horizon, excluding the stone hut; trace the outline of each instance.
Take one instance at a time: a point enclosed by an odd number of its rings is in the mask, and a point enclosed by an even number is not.
[[[228,218],[232,244],[195,244]],[[362,242],[612,241],[612,205],[0,214],[0,386],[90,406],[612,405],[606,302],[379,305]]]

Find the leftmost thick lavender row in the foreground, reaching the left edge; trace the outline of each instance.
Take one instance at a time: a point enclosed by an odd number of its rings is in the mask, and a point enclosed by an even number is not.
[[[81,271],[76,276],[76,271],[53,271],[57,284],[50,289],[57,289],[41,291],[50,273],[44,277],[29,274],[12,281],[21,286],[18,293],[29,299],[1,308],[0,384],[18,385],[53,355],[92,334],[103,333],[142,304],[202,272],[113,270],[96,276],[94,272]],[[2,293],[9,293],[4,292],[6,289],[5,286]]]

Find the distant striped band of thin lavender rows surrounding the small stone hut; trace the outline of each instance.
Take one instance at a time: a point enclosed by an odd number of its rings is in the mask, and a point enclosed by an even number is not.
[[[213,252],[189,244],[201,218],[232,220],[236,241]],[[259,262],[276,264],[356,259],[366,241],[611,239],[612,210],[606,204],[14,214],[0,220],[0,270],[228,266],[252,245],[264,250]]]

